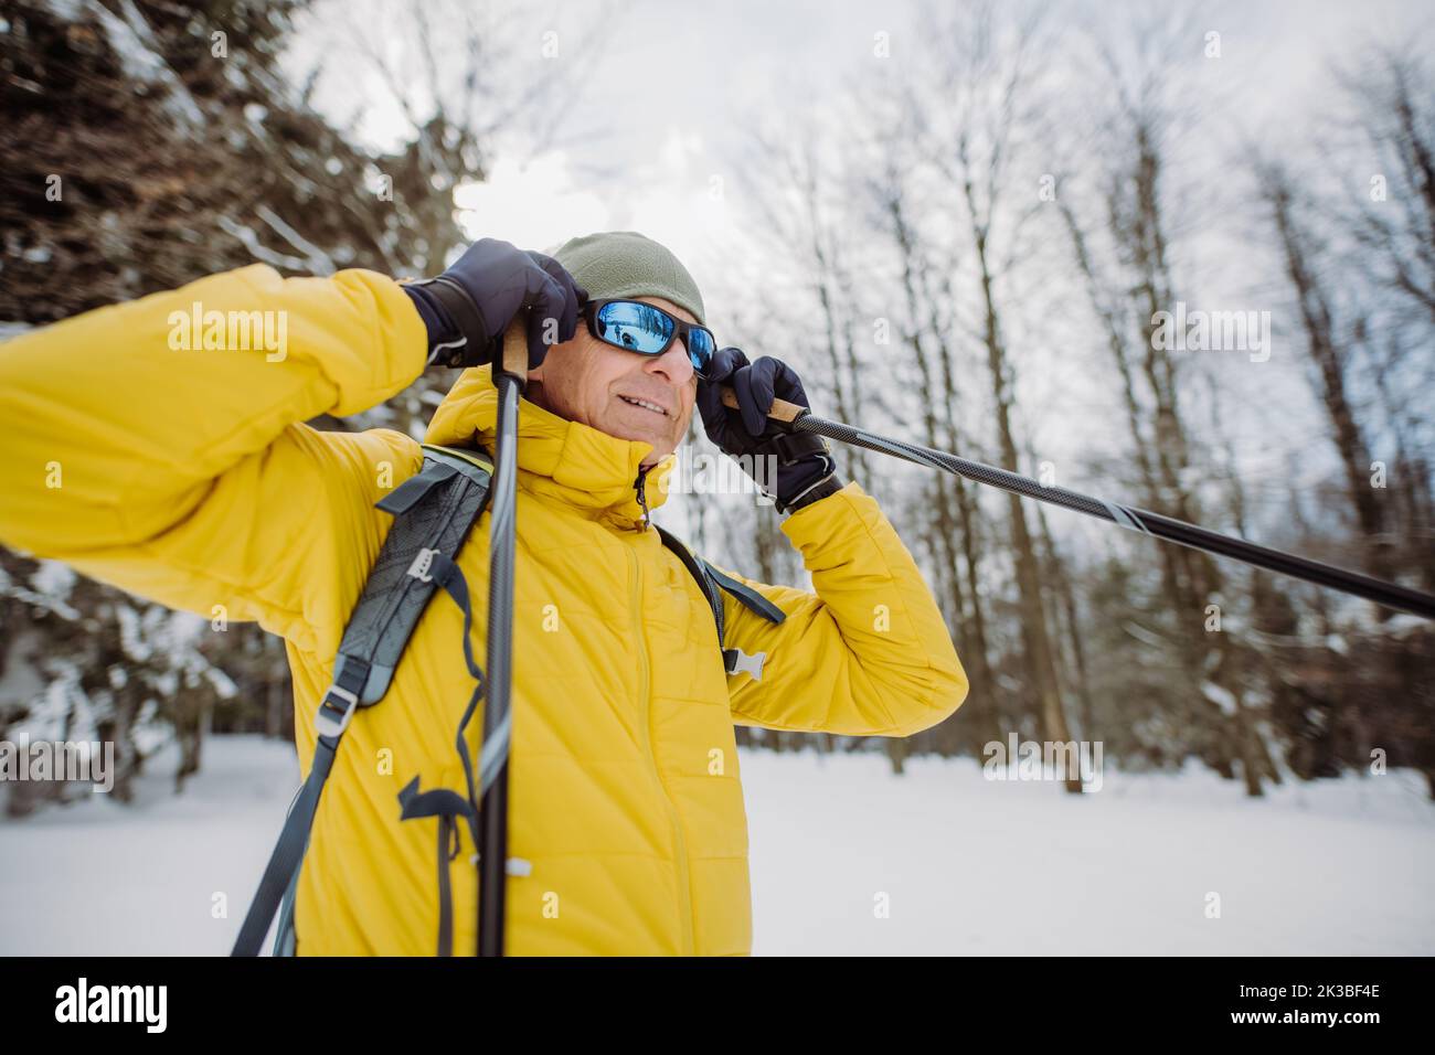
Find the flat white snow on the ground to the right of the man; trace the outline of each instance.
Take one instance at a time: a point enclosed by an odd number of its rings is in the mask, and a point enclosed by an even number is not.
[[[1248,801],[1195,768],[1108,768],[1066,795],[970,759],[742,766],[755,955],[1435,953],[1435,805],[1413,774]]]

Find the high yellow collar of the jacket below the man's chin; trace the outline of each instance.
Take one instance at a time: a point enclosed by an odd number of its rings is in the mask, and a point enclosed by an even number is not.
[[[459,375],[433,412],[423,442],[464,446],[476,441],[492,454],[497,426],[492,369],[475,366]],[[637,475],[651,451],[651,444],[618,439],[518,400],[518,485],[594,520],[630,531],[643,527]],[[676,455],[667,455],[647,471],[643,491],[649,510],[666,501],[666,478],[676,464]]]

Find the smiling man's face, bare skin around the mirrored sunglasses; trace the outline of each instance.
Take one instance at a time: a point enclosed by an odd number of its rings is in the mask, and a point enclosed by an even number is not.
[[[663,297],[633,297],[687,323],[692,314]],[[697,398],[687,347],[682,340],[660,356],[641,356],[604,344],[578,320],[573,340],[548,349],[542,366],[528,372],[527,399],[560,418],[581,422],[618,439],[653,445],[643,465],[656,465],[677,449]],[[640,406],[653,403],[662,411]]]

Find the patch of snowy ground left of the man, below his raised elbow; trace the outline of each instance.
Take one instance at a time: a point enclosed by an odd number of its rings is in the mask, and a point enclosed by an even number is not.
[[[291,748],[215,736],[174,795],[174,749],[146,762],[132,805],[0,821],[0,955],[225,955],[298,781]],[[228,919],[212,897],[228,896]]]

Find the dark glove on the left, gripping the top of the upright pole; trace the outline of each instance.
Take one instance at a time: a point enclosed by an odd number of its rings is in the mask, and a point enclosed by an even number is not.
[[[578,329],[578,306],[587,290],[552,257],[525,253],[507,241],[482,238],[465,250],[438,278],[405,283],[429,332],[429,365],[482,366],[502,347],[504,330],[528,311],[528,369],[548,355],[547,320],[558,323],[558,340]]]

